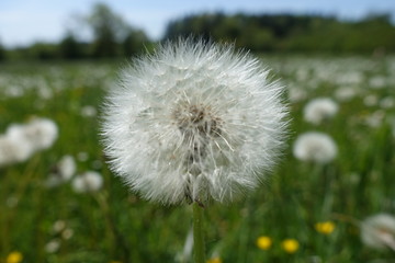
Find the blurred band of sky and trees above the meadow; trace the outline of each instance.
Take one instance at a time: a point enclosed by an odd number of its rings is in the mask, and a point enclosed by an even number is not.
[[[395,3],[364,1],[2,1],[1,58],[129,56],[202,35],[253,52],[394,50]]]

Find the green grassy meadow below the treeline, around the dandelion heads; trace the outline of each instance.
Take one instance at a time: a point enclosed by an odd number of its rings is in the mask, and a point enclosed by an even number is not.
[[[282,55],[262,61],[286,87],[287,146],[258,191],[206,207],[210,262],[394,262],[395,251],[362,242],[361,226],[370,216],[395,215],[395,57]],[[101,105],[123,64],[0,64],[0,134],[34,117],[58,127],[53,146],[0,167],[0,262],[12,255],[40,263],[191,262],[191,206],[139,198],[112,174],[102,152]],[[311,123],[304,108],[316,98],[329,98],[338,111]],[[334,139],[334,160],[293,155],[306,132]],[[74,178],[50,183],[65,156],[76,161]],[[87,171],[101,174],[99,190],[76,187]]]

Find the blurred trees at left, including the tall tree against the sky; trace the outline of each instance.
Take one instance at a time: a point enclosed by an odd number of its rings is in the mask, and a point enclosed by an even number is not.
[[[74,18],[71,24],[75,27],[69,28],[59,43],[35,43],[10,50],[0,45],[0,59],[114,58],[132,56],[151,46],[145,32],[127,24],[103,3],[95,4],[88,15]],[[82,30],[92,39],[83,41]]]

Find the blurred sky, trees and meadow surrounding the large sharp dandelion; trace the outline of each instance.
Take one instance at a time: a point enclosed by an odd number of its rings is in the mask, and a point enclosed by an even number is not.
[[[395,1],[0,2],[0,263],[192,262],[191,207],[131,193],[100,144],[120,68],[179,36],[285,87],[267,183],[205,209],[207,262],[395,262]]]

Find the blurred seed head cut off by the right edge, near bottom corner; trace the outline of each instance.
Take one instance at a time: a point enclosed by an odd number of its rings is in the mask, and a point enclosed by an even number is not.
[[[395,251],[395,217],[379,214],[366,218],[361,224],[361,239],[373,249]]]

